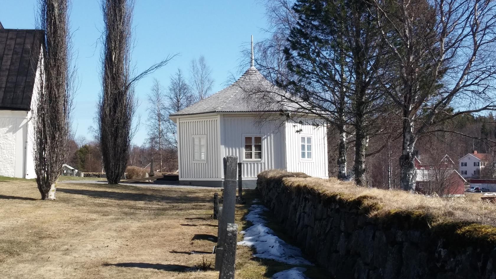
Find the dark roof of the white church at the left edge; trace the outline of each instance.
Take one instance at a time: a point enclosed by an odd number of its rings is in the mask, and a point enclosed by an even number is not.
[[[43,30],[0,29],[0,109],[30,110]]]

